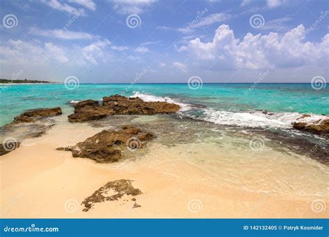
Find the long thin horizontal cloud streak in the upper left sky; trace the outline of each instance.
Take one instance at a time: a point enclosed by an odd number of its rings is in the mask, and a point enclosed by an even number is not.
[[[56,37],[62,40],[91,40],[96,38],[96,35],[90,35],[89,33],[70,31],[70,30],[43,30],[37,27],[30,29],[30,33],[33,35],[41,35],[44,37]]]

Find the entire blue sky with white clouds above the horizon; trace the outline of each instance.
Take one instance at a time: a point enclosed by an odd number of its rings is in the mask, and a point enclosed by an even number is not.
[[[4,0],[0,78],[328,80],[328,5],[326,0]]]

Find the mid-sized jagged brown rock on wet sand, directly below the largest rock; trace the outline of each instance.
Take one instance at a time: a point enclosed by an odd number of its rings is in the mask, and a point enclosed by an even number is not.
[[[70,150],[73,157],[94,159],[100,163],[112,163],[121,159],[121,150],[136,150],[144,147],[145,141],[153,139],[153,134],[143,132],[133,126],[124,126],[122,130],[103,130],[94,136],[79,142],[76,146],[57,148]]]

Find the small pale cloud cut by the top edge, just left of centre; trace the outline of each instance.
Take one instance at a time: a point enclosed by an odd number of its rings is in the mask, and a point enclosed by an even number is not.
[[[150,8],[152,3],[157,0],[112,0],[113,9],[121,14],[142,14],[144,10]]]

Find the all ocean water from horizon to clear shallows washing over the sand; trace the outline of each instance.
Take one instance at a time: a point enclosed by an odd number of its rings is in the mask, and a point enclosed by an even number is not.
[[[101,100],[103,96],[123,94],[139,96],[146,101],[168,101],[180,105],[177,114],[109,116],[82,124],[86,129],[88,126],[119,129],[121,125],[132,123],[156,134],[155,141],[148,145],[152,154],[149,159],[142,154],[149,151],[141,150],[142,155],[125,153],[126,158],[121,162],[106,164],[106,167],[138,170],[143,165],[166,172],[171,170],[181,177],[183,174],[174,164],[183,161],[209,175],[205,178],[188,174],[185,179],[191,182],[194,178],[204,179],[205,185],[225,184],[284,196],[328,196],[328,139],[294,130],[292,123],[328,118],[329,89],[316,90],[310,84],[260,84],[246,92],[251,86],[203,84],[199,89],[190,89],[183,84],[132,87],[82,84],[72,90],[61,84],[3,86],[1,125],[10,123],[27,109],[60,106],[64,115],[41,121],[42,125],[15,125],[15,132],[0,130],[0,139],[14,137],[23,141],[26,134],[37,133],[46,123],[49,128],[56,123],[57,128],[51,127],[55,134],[56,129],[63,130],[62,126],[71,131],[76,126],[81,128],[81,124],[69,123],[66,118],[74,110],[72,103],[78,100]],[[311,116],[300,119],[302,114]],[[57,135],[61,139],[62,132]],[[35,145],[33,139],[22,143],[22,146]],[[155,152],[160,148],[161,152]]]

